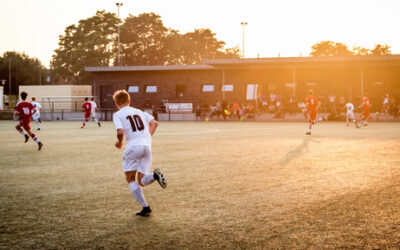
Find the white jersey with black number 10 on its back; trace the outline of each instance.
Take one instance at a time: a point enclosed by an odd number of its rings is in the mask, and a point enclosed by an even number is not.
[[[123,129],[126,137],[126,150],[132,146],[151,147],[149,123],[154,119],[150,114],[126,106],[113,115],[116,129]]]

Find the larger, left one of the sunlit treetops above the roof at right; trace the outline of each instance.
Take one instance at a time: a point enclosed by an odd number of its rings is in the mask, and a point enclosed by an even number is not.
[[[311,47],[310,56],[351,56],[353,53],[343,43],[322,41]]]

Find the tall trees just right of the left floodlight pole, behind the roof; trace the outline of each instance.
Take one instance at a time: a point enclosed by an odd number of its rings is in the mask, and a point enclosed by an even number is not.
[[[121,26],[122,63],[124,65],[200,64],[209,58],[239,58],[239,50],[223,50],[210,29],[195,29],[179,34],[166,28],[154,13],[129,15]]]

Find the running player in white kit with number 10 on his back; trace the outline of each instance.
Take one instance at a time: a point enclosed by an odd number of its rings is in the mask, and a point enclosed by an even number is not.
[[[115,146],[121,149],[124,135],[126,138],[122,170],[125,172],[126,181],[133,197],[143,207],[142,211],[137,212],[136,215],[148,216],[151,213],[151,209],[144,198],[140,186],[149,185],[154,180],[157,180],[161,187],[167,187],[167,180],[159,169],[155,169],[153,173],[150,173],[151,136],[156,131],[158,123],[150,114],[130,107],[130,97],[125,90],[116,91],[113,99],[119,109],[113,115],[118,139]]]

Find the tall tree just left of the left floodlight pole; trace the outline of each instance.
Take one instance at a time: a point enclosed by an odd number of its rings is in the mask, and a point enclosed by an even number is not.
[[[97,11],[96,15],[70,25],[60,36],[53,55],[53,72],[78,84],[89,81],[85,66],[109,66],[115,56],[113,45],[120,20],[114,13]]]

